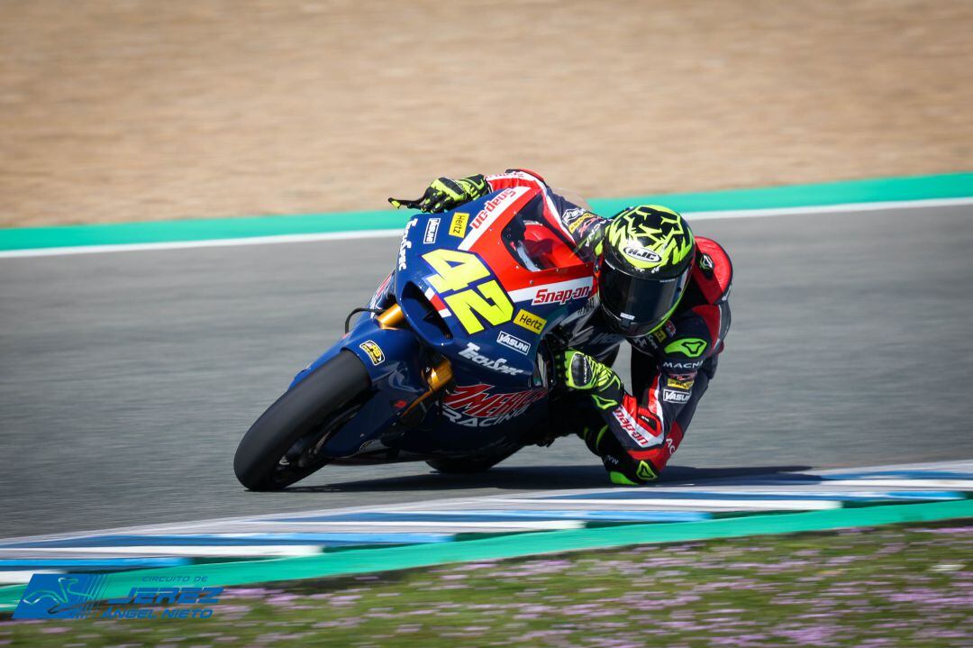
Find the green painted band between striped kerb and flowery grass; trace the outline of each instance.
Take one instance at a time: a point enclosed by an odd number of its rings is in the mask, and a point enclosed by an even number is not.
[[[301,558],[223,562],[195,567],[123,572],[112,576],[106,598],[126,594],[141,585],[144,576],[208,577],[207,584],[230,587],[325,576],[363,574],[393,569],[428,567],[448,562],[518,558],[537,554],[579,551],[627,545],[685,542],[749,535],[777,535],[853,526],[899,522],[933,522],[973,517],[973,500],[932,504],[900,504],[862,509],[835,509],[811,513],[759,515],[705,522],[632,524],[605,528],[570,529],[494,536],[482,540],[432,543],[407,547],[361,549]],[[0,609],[17,605],[23,585],[0,588]]]

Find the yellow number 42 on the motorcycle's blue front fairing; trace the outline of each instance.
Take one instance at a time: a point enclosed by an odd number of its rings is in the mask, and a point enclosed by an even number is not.
[[[466,333],[472,335],[484,330],[480,317],[490,326],[499,326],[514,316],[514,305],[496,279],[470,286],[491,276],[489,269],[475,254],[440,249],[423,254],[422,258],[436,270],[436,274],[428,277],[436,292],[440,295],[451,293],[445,295],[443,301]]]

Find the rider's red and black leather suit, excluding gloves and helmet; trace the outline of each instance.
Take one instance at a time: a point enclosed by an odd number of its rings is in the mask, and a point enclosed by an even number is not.
[[[560,197],[530,172],[507,171],[486,176],[486,182],[490,191],[523,186],[541,189],[548,227],[570,241],[583,260],[595,261],[607,219]],[[633,482],[655,479],[679,448],[716,372],[730,328],[730,257],[709,238],[696,236],[696,245],[686,293],[665,326],[654,334],[628,340],[632,346],[631,385],[619,405],[598,411],[588,399],[576,396],[572,399],[576,407],[555,408],[553,413],[555,426],[577,427],[578,410],[587,411],[589,415],[580,419],[583,429],[572,431],[585,438],[606,469],[621,472]],[[626,339],[601,317],[596,292],[592,301],[593,307],[567,322],[561,333],[570,347],[610,366]]]

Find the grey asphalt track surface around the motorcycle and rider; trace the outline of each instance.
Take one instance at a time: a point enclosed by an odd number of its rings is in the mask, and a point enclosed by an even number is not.
[[[973,207],[695,230],[734,260],[733,326],[667,481],[973,457]],[[236,483],[240,436],[397,245],[0,260],[0,536],[605,486],[575,438],[473,477],[411,463]]]

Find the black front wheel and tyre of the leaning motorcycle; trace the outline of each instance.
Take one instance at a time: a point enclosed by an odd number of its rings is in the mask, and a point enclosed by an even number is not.
[[[250,426],[234,456],[240,484],[279,490],[328,462],[317,450],[363,405],[371,380],[347,350],[288,389]]]

